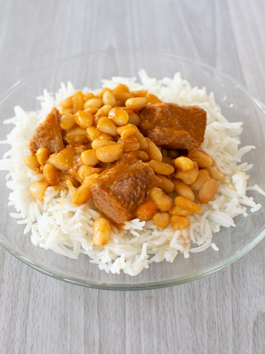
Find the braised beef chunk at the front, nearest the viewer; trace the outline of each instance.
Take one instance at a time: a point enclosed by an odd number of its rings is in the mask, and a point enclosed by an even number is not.
[[[139,205],[147,199],[151,188],[159,186],[148,163],[127,154],[108,170],[101,172],[90,184],[96,207],[120,224],[135,216]]]

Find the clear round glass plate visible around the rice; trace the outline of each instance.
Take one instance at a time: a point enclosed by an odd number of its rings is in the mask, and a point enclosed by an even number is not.
[[[243,121],[244,131],[241,145],[256,145],[243,161],[254,164],[249,171],[249,185],[259,184],[265,188],[264,170],[264,134],[265,107],[249,92],[229,77],[215,69],[193,60],[175,55],[139,51],[115,51],[88,53],[75,56],[17,82],[0,100],[1,121],[14,115],[13,107],[22,106],[25,110],[39,107],[36,96],[46,88],[51,92],[58,90],[61,82],[72,81],[76,89],[89,86],[93,89],[101,86],[102,78],[112,76],[137,76],[144,68],[149,76],[173,77],[176,71],[192,86],[205,86],[207,92],[215,93],[215,100],[221,106],[222,113],[231,122]],[[1,124],[0,140],[4,140],[10,125]],[[0,156],[8,149],[0,145]],[[236,228],[222,228],[214,235],[213,242],[218,246],[216,252],[211,247],[201,253],[192,253],[184,259],[178,255],[175,261],[152,263],[135,277],[121,273],[107,274],[98,266],[89,263],[89,258],[80,255],[78,260],[34,247],[30,236],[23,234],[24,227],[17,225],[9,216],[12,208],[7,206],[9,190],[5,187],[5,173],[0,173],[1,193],[0,245],[27,265],[51,277],[69,283],[99,289],[135,290],[151,289],[189,282],[210,274],[243,256],[265,236],[265,208],[259,212],[249,212],[248,217],[235,218]],[[264,203],[264,197],[256,192],[252,194],[256,202]]]

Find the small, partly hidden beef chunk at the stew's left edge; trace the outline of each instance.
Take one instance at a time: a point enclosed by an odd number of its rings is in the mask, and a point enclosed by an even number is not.
[[[35,153],[39,147],[46,147],[51,154],[59,152],[65,147],[59,124],[58,109],[53,107],[46,120],[37,126],[29,147],[32,153]]]

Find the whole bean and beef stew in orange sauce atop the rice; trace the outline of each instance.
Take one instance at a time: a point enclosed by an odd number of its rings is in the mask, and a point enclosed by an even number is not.
[[[206,111],[164,103],[126,85],[97,93],[75,91],[53,107],[30,140],[25,164],[43,177],[29,193],[40,201],[50,186],[67,187],[73,203],[93,199],[102,214],[93,243],[104,246],[111,223],[137,217],[184,230],[224,174],[200,147]],[[122,226],[120,226],[122,227]]]

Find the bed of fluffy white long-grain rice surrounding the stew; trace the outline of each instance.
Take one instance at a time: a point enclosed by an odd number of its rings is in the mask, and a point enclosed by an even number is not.
[[[185,258],[190,252],[201,252],[212,246],[214,232],[220,227],[235,227],[233,218],[239,214],[247,216],[250,212],[261,208],[246,191],[255,190],[265,195],[257,185],[247,187],[248,175],[243,172],[252,167],[241,162],[242,156],[254,146],[238,149],[242,123],[230,123],[222,115],[220,107],[215,103],[213,93],[209,95],[205,88],[192,88],[180,73],[173,79],[157,80],[149,78],[144,70],[139,72],[142,84],[136,78],[113,77],[102,80],[102,87],[114,88],[117,83],[126,84],[130,89],[148,89],[162,101],[179,105],[198,105],[207,111],[207,127],[202,148],[209,153],[226,177],[219,182],[219,189],[212,201],[201,205],[199,214],[189,216],[191,225],[186,230],[175,230],[169,226],[165,230],[157,228],[152,221],[140,222],[134,219],[125,223],[124,230],[112,226],[109,242],[103,248],[95,247],[92,242],[93,223],[99,213],[93,202],[81,206],[72,203],[67,190],[58,192],[49,187],[44,201],[33,199],[28,193],[29,184],[42,177],[33,175],[23,163],[23,158],[30,154],[28,147],[36,126],[43,122],[51,107],[59,108],[59,102],[73,94],[75,89],[70,82],[61,84],[61,88],[53,97],[47,90],[38,97],[41,108],[37,112],[25,112],[16,106],[15,117],[6,120],[5,124],[15,124],[5,142],[11,145],[3,159],[0,170],[8,170],[7,187],[12,190],[9,195],[9,206],[16,212],[10,213],[17,223],[24,224],[24,233],[31,232],[33,245],[51,249],[72,259],[80,253],[87,254],[90,262],[99,266],[107,273],[124,273],[137,275],[152,262],[173,262],[178,253]],[[84,91],[93,91],[84,88]]]

